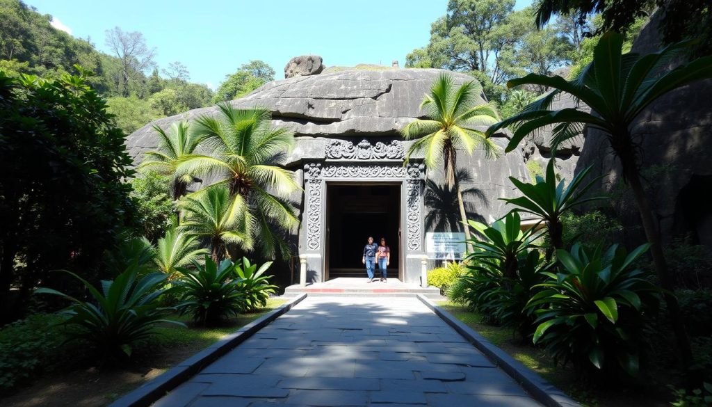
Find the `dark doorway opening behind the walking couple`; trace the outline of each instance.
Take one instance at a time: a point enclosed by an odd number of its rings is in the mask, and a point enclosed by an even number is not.
[[[388,275],[401,278],[400,189],[400,184],[327,186],[327,279],[366,277],[361,258],[369,236],[376,243],[386,239]]]

